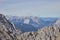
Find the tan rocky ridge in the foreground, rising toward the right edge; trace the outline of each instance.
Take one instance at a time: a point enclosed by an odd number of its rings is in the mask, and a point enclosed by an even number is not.
[[[25,32],[21,36],[23,40],[60,40],[60,26],[53,24],[43,27],[37,32]]]

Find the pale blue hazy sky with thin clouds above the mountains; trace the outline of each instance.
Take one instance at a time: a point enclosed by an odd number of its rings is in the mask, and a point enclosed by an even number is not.
[[[60,17],[60,0],[0,0],[0,13],[16,16]]]

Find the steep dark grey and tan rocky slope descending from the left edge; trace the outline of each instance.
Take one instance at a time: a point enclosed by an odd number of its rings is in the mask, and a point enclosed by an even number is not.
[[[20,36],[20,31],[0,14],[0,40],[18,40],[20,39],[18,36]]]

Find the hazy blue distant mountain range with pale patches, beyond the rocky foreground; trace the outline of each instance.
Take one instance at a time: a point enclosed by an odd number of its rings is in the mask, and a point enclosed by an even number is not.
[[[43,17],[18,17],[6,16],[9,21],[15,24],[17,29],[22,32],[37,31],[45,26],[54,24],[58,18],[43,18]]]

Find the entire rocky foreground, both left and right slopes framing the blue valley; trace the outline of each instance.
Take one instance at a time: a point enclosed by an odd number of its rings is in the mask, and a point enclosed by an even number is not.
[[[58,20],[54,25],[39,29],[37,32],[21,34],[21,31],[0,14],[0,40],[60,40],[59,22]]]

